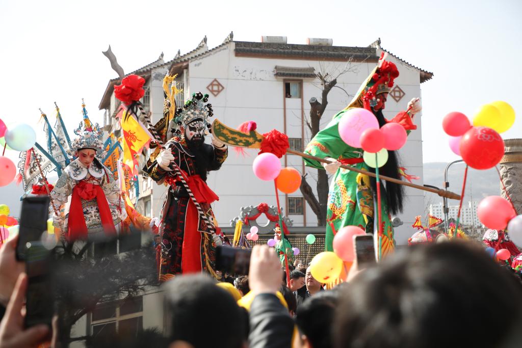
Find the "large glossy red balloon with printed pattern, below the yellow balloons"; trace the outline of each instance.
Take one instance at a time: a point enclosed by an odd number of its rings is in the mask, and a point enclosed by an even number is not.
[[[504,140],[494,129],[472,127],[460,140],[460,155],[474,169],[490,169],[504,156]]]

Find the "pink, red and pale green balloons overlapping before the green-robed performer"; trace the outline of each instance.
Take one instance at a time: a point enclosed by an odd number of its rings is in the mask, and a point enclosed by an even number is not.
[[[400,149],[407,140],[406,129],[400,124],[389,122],[379,128],[374,114],[359,107],[343,111],[338,129],[344,142],[364,150],[364,163],[372,168],[386,164],[388,150]]]

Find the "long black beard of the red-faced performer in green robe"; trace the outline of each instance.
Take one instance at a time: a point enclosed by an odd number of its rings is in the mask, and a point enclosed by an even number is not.
[[[383,115],[383,111],[375,111],[372,109],[372,112],[379,122],[379,127],[384,126],[386,121]],[[399,175],[399,167],[401,165],[399,162],[399,154],[396,151],[388,150],[388,161],[382,167],[379,167],[379,174],[400,180],[401,177]],[[370,168],[370,171],[375,173],[374,168]],[[376,193],[377,184],[375,178],[370,177],[370,183],[372,185],[373,191]],[[385,193],[390,213],[395,215],[399,212],[402,212],[402,203],[404,202],[404,187],[395,183],[386,182],[386,188],[384,188],[383,181],[381,181],[381,191],[384,191]]]

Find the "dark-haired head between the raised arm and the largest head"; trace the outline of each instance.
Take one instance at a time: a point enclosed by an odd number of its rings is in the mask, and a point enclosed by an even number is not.
[[[304,301],[297,310],[295,322],[299,335],[296,347],[329,348],[332,346],[331,326],[334,321],[338,296],[334,291],[323,291]],[[295,344],[296,343],[296,344]]]

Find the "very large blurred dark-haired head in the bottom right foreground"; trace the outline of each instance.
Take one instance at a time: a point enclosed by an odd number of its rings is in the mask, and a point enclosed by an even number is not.
[[[522,286],[481,248],[431,243],[360,273],[339,300],[337,348],[499,347],[520,325]]]

